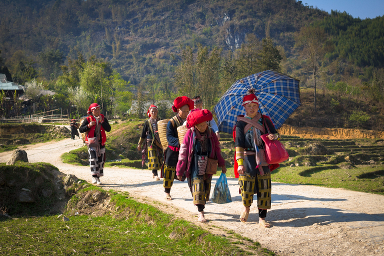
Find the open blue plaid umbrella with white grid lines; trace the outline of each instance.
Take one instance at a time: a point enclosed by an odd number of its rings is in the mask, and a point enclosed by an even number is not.
[[[272,70],[235,81],[214,106],[219,131],[232,133],[237,115],[245,114],[242,98],[253,89],[261,114],[267,115],[276,129],[299,106],[299,80]]]

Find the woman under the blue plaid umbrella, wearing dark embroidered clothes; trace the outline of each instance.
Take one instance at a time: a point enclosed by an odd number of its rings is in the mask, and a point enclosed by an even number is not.
[[[237,116],[235,125],[235,176],[238,177],[240,192],[244,210],[240,214],[240,221],[246,222],[249,207],[253,202],[253,195],[257,195],[257,208],[259,225],[270,227],[265,222],[267,209],[271,202],[270,171],[278,167],[278,164],[267,164],[264,155],[264,142],[260,135],[270,130],[268,138],[279,138],[279,134],[272,121],[265,115],[261,115],[258,109],[258,99],[251,93],[243,97],[242,105],[245,108],[245,116]],[[236,169],[237,167],[237,169]]]

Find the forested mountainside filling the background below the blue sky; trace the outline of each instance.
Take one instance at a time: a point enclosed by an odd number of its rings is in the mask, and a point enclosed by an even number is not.
[[[104,97],[105,109],[121,113],[148,91],[172,99],[189,86],[180,66],[201,76],[204,61],[214,75],[201,80],[219,84],[212,102],[235,79],[265,69],[375,109],[383,102],[384,16],[361,20],[295,0],[2,2],[0,68],[17,83],[56,91],[41,106],[83,111]],[[314,68],[304,43],[312,34],[321,48]]]

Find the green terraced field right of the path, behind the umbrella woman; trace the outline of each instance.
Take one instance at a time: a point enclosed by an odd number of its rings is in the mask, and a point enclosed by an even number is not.
[[[222,155],[233,166],[234,142],[220,134]],[[384,139],[324,139],[282,135],[289,158],[272,181],[384,194]]]

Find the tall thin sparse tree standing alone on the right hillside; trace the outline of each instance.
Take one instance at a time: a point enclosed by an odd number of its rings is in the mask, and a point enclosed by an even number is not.
[[[306,60],[309,72],[312,74],[314,111],[316,111],[316,76],[322,72],[319,70],[321,60],[332,45],[328,35],[322,28],[306,26],[300,29],[295,46],[300,50],[300,56]]]

